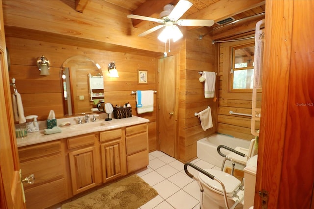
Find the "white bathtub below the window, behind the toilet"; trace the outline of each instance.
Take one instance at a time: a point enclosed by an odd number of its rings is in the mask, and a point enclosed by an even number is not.
[[[250,140],[239,139],[223,134],[213,134],[207,138],[198,140],[197,142],[197,157],[212,165],[221,168],[224,157],[218,154],[217,147],[219,145],[226,145],[230,148],[243,147],[249,149]],[[221,152],[228,153],[225,149],[221,149]],[[226,161],[225,168],[231,167],[230,161]],[[243,170],[244,166],[235,164],[235,168]]]

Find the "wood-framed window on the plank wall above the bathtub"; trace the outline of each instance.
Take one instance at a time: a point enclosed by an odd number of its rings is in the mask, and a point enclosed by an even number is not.
[[[251,92],[254,78],[254,43],[231,47],[230,92]]]

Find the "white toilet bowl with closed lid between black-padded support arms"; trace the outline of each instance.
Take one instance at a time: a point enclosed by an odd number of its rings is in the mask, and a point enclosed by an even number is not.
[[[228,206],[232,207],[236,200],[240,203],[235,207],[235,209],[242,209],[243,205],[243,196],[244,191],[242,189],[241,181],[235,178],[234,176],[219,171],[215,169],[204,169],[211,175],[219,179],[225,186],[226,195],[228,200]],[[210,179],[208,176],[203,173],[198,173],[198,180],[202,184],[204,192],[202,198],[203,209],[225,209],[225,200],[223,189],[220,183],[215,180]],[[237,194],[238,197],[235,197]]]

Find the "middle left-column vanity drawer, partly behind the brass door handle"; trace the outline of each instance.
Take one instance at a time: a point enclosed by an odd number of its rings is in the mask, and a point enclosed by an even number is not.
[[[64,167],[61,154],[50,157],[42,157],[35,160],[30,160],[20,164],[22,169],[22,179],[34,174],[34,184],[24,184],[24,188],[34,187],[40,185],[43,182],[50,181],[52,179],[61,179],[64,177]]]

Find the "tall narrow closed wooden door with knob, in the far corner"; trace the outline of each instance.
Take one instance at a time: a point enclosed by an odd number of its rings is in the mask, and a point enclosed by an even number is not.
[[[158,124],[160,151],[175,157],[176,117],[175,56],[159,59]]]

